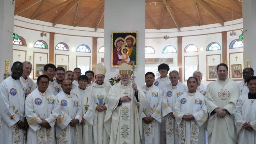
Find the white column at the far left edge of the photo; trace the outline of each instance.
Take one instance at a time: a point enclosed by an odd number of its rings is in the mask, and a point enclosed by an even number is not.
[[[10,69],[12,67],[14,23],[14,5],[12,2],[12,0],[0,0],[0,82],[3,81],[3,74],[5,73],[5,60],[10,60]]]

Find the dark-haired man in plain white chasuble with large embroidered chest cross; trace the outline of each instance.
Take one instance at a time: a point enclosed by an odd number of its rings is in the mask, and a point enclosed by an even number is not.
[[[207,122],[209,144],[236,144],[238,135],[233,111],[241,90],[237,82],[227,77],[228,66],[218,64],[218,79],[207,86],[205,103],[209,114]]]

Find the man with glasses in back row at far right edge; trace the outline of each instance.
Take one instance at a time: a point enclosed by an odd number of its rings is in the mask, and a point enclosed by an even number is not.
[[[244,81],[238,83],[238,86],[240,87],[241,92],[242,92],[241,95],[249,92],[246,81],[249,77],[251,77],[253,75],[254,75],[253,68],[244,68],[243,69],[243,79],[244,79]]]

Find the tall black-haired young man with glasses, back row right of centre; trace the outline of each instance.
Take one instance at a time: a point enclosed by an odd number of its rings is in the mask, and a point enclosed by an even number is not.
[[[157,66],[157,70],[160,73],[160,77],[158,77],[155,82],[154,85],[159,87],[162,91],[163,89],[171,83],[170,81],[170,77],[168,76],[168,71],[170,70],[168,64],[166,63],[162,63],[159,64],[159,66]],[[162,119],[162,123],[161,123],[161,131],[160,131],[160,143],[161,144],[165,144],[166,143],[166,139],[165,139],[165,119]]]

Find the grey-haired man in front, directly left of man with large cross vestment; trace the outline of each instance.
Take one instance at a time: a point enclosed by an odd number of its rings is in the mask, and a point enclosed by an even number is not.
[[[204,144],[204,123],[208,113],[204,96],[197,91],[197,78],[189,77],[188,90],[176,99],[174,116],[179,125],[181,144]]]

